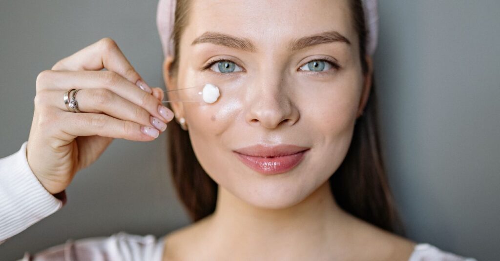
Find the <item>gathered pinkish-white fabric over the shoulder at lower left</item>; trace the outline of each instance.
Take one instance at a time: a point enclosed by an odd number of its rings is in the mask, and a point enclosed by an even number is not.
[[[80,260],[144,260],[161,261],[163,242],[153,235],[133,235],[119,232],[110,237],[69,239],[34,255],[25,253],[20,261],[80,261]]]

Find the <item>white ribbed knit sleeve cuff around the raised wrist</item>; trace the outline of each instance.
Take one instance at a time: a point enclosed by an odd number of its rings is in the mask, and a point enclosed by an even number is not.
[[[50,194],[33,174],[26,145],[0,159],[0,244],[66,204],[65,191]]]

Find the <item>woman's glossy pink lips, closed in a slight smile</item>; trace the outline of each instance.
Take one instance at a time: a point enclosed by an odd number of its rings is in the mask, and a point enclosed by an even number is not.
[[[289,144],[254,145],[234,152],[251,169],[262,174],[279,174],[294,168],[303,159],[306,147]]]

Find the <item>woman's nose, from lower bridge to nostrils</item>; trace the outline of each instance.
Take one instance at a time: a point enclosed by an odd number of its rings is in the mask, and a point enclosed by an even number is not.
[[[298,121],[299,111],[291,99],[282,75],[258,77],[253,86],[248,88],[248,110],[245,115],[250,125],[274,129],[279,126],[291,126]]]

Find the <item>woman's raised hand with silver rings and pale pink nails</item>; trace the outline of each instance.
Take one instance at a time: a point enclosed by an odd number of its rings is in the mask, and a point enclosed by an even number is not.
[[[75,99],[81,113],[64,105],[63,95],[71,88],[80,89]],[[36,78],[26,146],[31,170],[51,194],[63,191],[113,138],[151,141],[164,131],[173,113],[162,107],[162,99],[161,88],[143,83],[110,38],[59,60]]]

